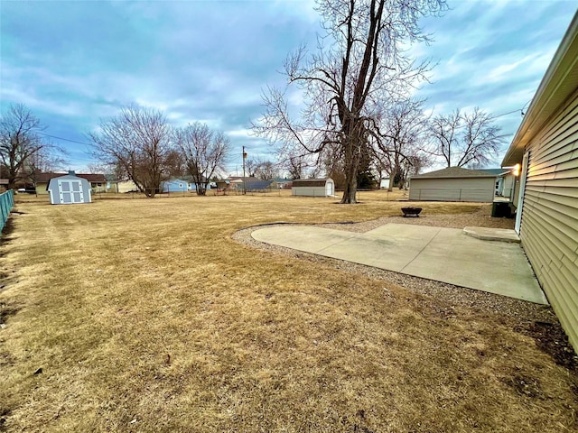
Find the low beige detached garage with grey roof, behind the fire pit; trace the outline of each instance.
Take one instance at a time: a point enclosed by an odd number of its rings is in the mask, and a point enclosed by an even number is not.
[[[481,170],[449,167],[412,176],[409,199],[417,201],[494,201],[497,176]]]

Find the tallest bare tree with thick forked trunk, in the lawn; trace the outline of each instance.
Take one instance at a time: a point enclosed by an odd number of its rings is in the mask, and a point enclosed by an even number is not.
[[[290,115],[284,92],[269,88],[254,131],[318,155],[336,144],[346,179],[341,203],[355,203],[361,151],[376,134],[372,102],[405,94],[424,77],[428,65],[416,65],[403,45],[427,41],[419,18],[445,7],[444,0],[319,0],[326,31],[319,50],[308,56],[302,47],[284,64],[288,86],[303,95],[299,120]]]

